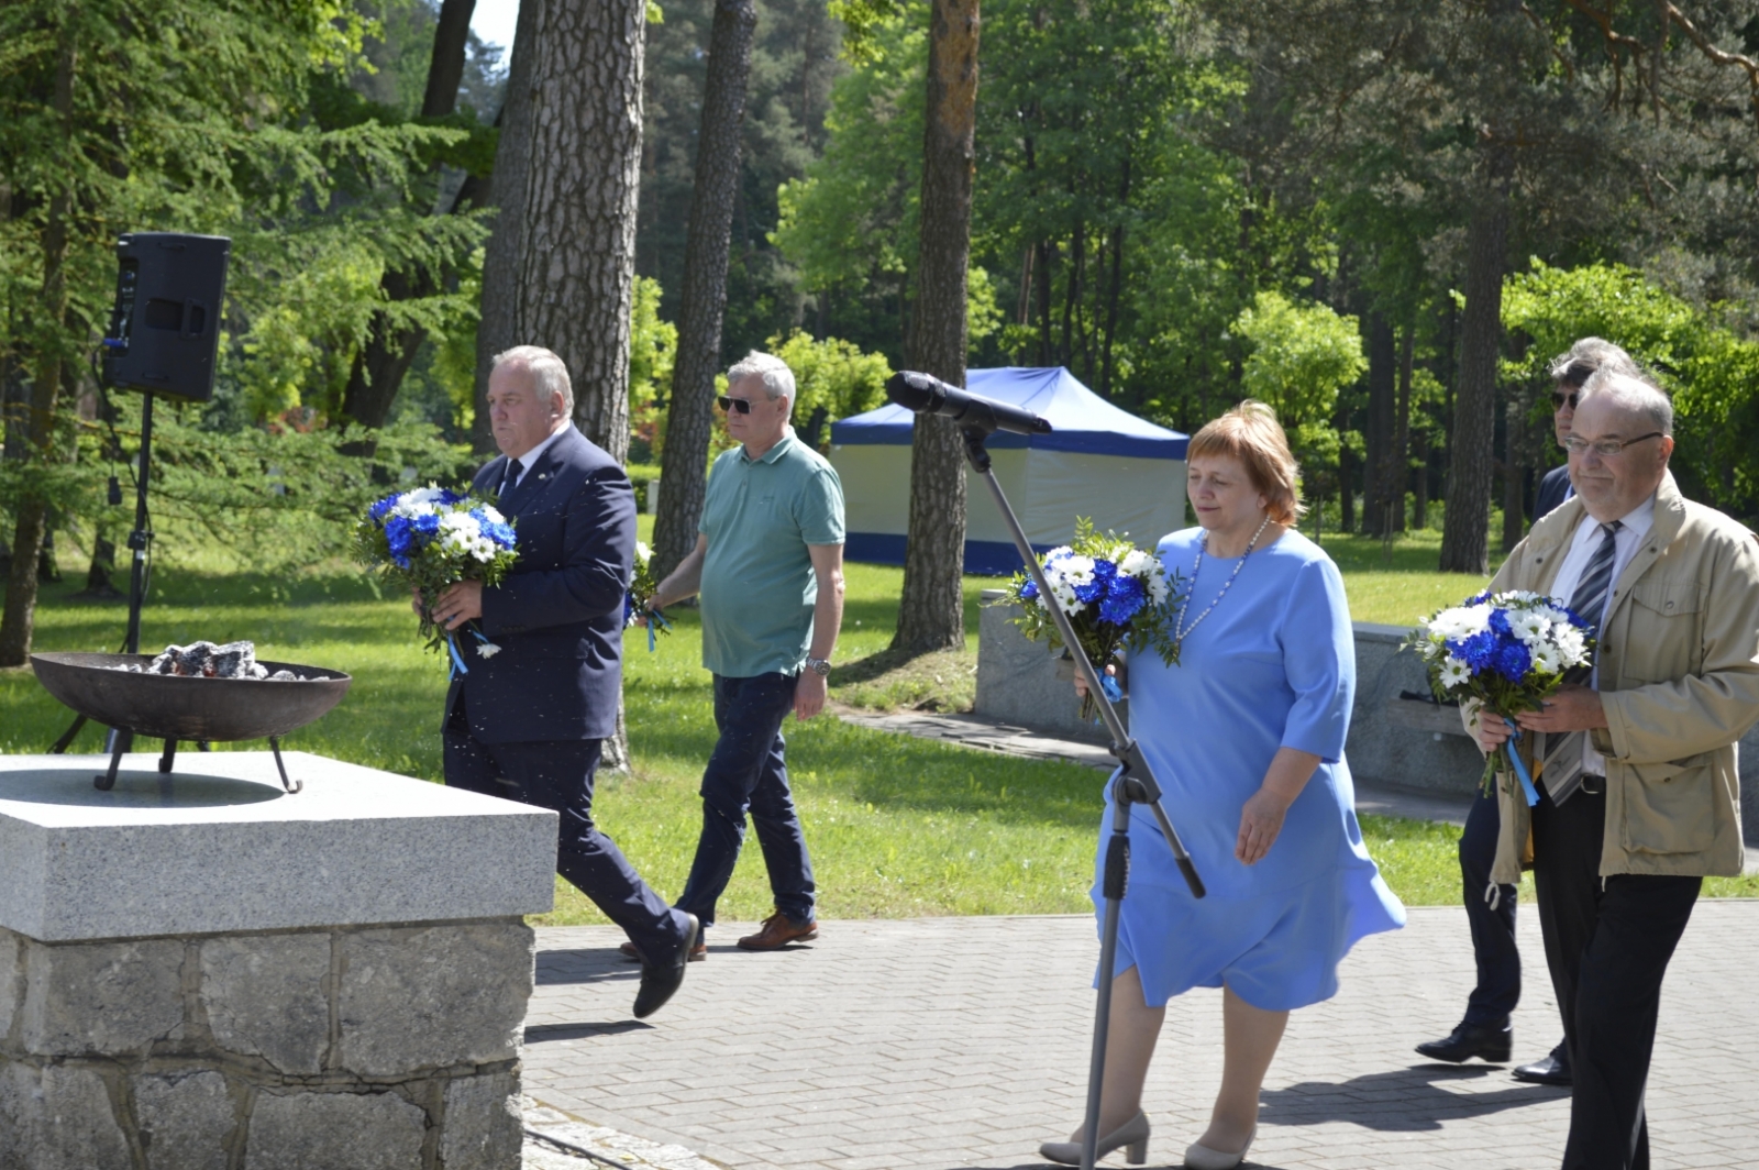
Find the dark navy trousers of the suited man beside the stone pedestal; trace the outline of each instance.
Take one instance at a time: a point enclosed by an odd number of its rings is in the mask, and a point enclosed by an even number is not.
[[[663,962],[684,941],[684,915],[667,908],[617,845],[593,823],[598,739],[485,744],[470,734],[463,700],[445,728],[445,783],[552,809],[561,823],[556,873],[593,899],[644,955]]]

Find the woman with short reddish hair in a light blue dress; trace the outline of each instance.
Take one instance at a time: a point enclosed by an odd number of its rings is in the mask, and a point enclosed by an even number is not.
[[[1356,825],[1344,764],[1349,607],[1337,565],[1293,528],[1296,466],[1282,428],[1268,406],[1242,403],[1193,436],[1187,466],[1200,528],[1159,545],[1189,589],[1175,609],[1179,665],[1152,651],[1131,658],[1129,716],[1208,897],[1191,896],[1154,815],[1135,806],[1099,1151],[1145,1158],[1142,1086],[1166,1001],[1221,987],[1223,1086],[1186,1165],[1226,1170],[1251,1147],[1289,1012],[1337,994],[1351,945],[1405,913]],[[1101,857],[1110,829],[1108,786]],[[1098,881],[1092,897],[1103,920]],[[1078,1165],[1080,1131],[1040,1152]]]

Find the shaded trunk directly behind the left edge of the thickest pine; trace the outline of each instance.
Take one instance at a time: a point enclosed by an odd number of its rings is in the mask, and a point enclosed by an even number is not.
[[[470,428],[470,445],[478,454],[494,452],[489,428],[489,371],[494,355],[519,338],[519,273],[526,253],[526,179],[531,171],[531,86],[538,56],[538,28],[544,0],[522,0],[514,30],[514,56],[507,67],[507,102],[501,106],[501,139],[494,148],[494,176],[489,183],[494,204],[494,230],[482,259],[482,313],[477,322],[477,417]]]

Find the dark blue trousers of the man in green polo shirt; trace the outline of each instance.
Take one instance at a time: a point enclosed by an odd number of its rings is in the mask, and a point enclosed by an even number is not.
[[[813,920],[818,892],[813,859],[783,762],[781,721],[793,711],[793,686],[795,677],[781,672],[748,679],[714,676],[714,727],[721,737],[702,772],[702,837],[677,899],[677,908],[697,915],[704,929],[714,924],[714,903],[734,878],[748,811],[758,829],[776,910],[797,924]]]

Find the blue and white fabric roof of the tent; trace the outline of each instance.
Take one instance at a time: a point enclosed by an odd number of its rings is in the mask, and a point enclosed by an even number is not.
[[[1187,435],[1143,422],[1105,401],[1062,366],[967,369],[966,389],[1050,420],[1050,435],[997,431],[990,447],[1036,447],[1092,456],[1136,456],[1140,459],[1184,459]],[[844,445],[908,447],[916,415],[895,403],[830,424],[830,442]]]

